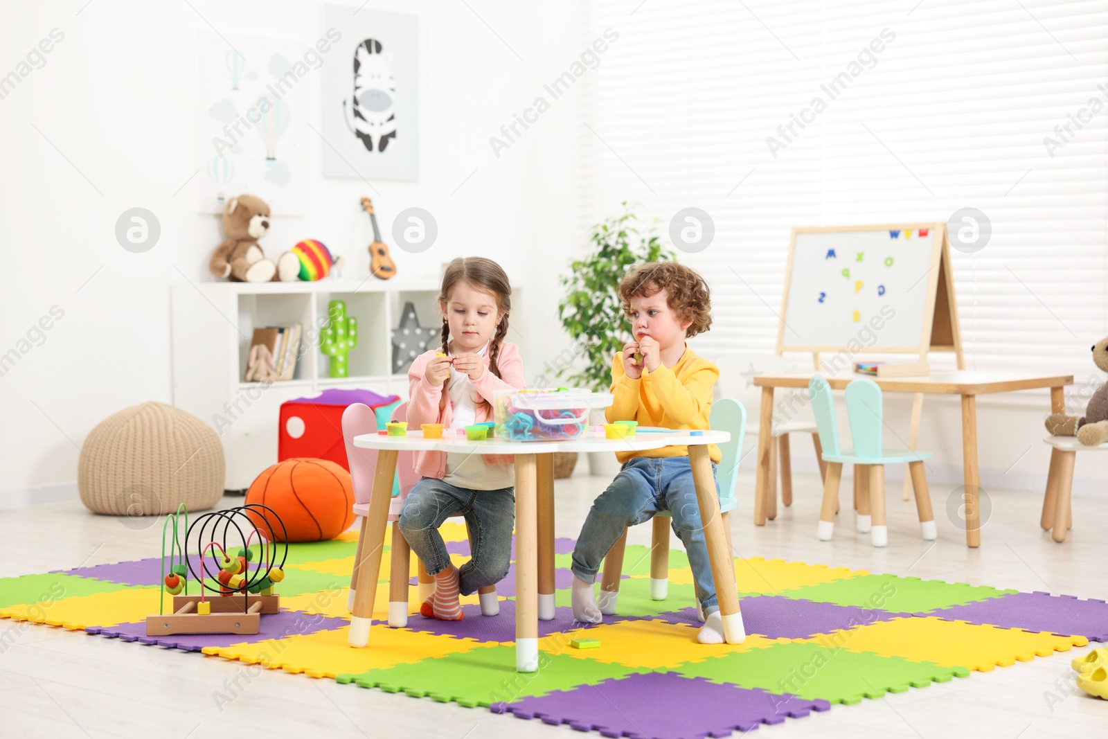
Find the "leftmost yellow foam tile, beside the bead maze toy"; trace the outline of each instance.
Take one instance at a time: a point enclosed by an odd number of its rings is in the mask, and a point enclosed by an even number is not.
[[[172,597],[156,587],[134,587],[112,593],[94,593],[55,601],[49,608],[24,604],[0,608],[0,617],[29,620],[37,624],[63,626],[69,629],[84,629],[89,626],[115,626],[129,622],[143,620],[158,612],[158,595],[164,598],[166,610],[173,610]],[[38,616],[30,612],[44,610]]]

